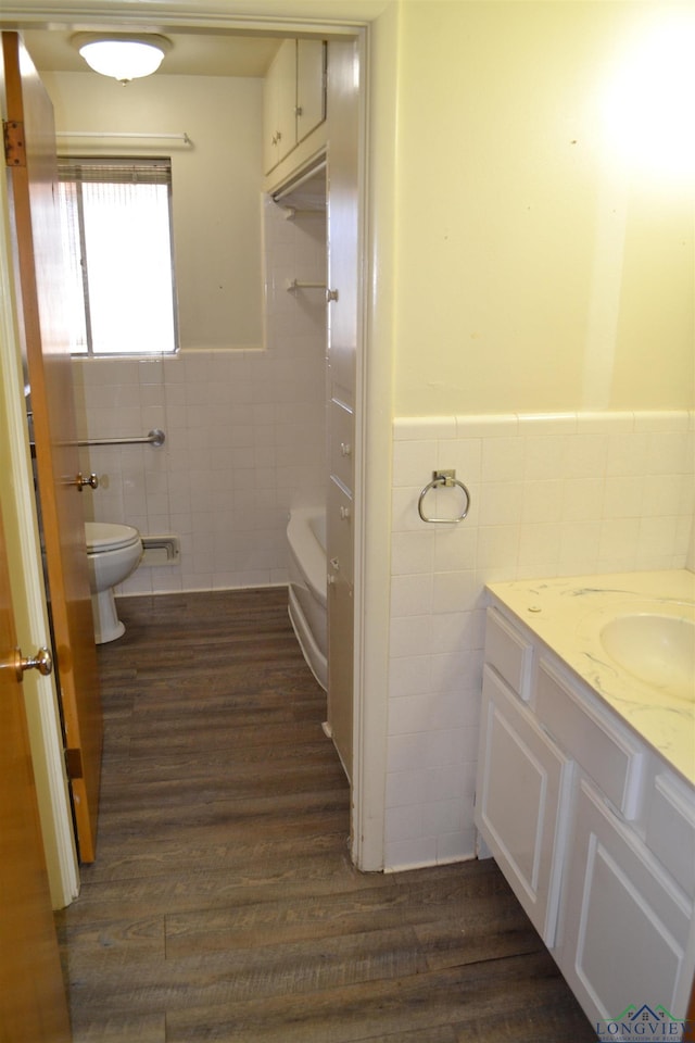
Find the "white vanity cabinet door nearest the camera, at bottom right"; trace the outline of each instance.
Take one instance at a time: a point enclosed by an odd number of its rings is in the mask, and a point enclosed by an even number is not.
[[[606,1021],[629,1022],[643,1004],[685,1017],[674,1003],[691,913],[640,838],[582,778],[556,958],[598,1032]]]

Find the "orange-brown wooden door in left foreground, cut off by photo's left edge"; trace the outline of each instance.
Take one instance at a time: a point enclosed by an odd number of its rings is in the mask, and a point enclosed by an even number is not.
[[[72,1039],[51,913],[0,514],[0,1038]],[[34,652],[34,649],[24,652]]]

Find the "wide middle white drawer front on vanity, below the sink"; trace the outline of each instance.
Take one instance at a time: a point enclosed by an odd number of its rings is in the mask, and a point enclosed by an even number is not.
[[[535,681],[535,712],[547,731],[614,806],[626,818],[634,818],[644,759],[640,744],[604,718],[593,701],[572,692],[544,659],[539,662]]]

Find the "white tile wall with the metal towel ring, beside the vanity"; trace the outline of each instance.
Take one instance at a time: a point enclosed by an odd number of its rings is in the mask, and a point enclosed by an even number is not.
[[[687,413],[395,422],[387,868],[475,853],[484,585],[683,568],[694,445]],[[469,515],[426,525],[420,490],[451,467],[470,489]],[[426,510],[454,513],[459,495],[432,491]]]

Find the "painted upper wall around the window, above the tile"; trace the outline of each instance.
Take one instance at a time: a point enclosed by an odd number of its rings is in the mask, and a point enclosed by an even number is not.
[[[263,347],[263,80],[166,76],[122,87],[97,73],[42,73],[58,131],[187,133],[177,142],[59,139],[75,153],[168,154],[179,343]]]

